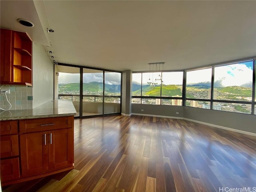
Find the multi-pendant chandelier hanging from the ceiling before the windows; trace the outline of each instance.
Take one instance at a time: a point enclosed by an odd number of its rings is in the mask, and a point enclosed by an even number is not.
[[[162,65],[162,70],[160,69],[161,65]],[[152,68],[152,70],[151,70],[151,68]],[[164,62],[149,63],[149,72],[152,71],[152,79],[150,78],[150,74],[149,74],[147,83],[150,84],[150,86],[162,84],[162,82],[163,82],[162,71],[163,70],[164,70]],[[154,72],[159,72],[158,76],[154,77]]]

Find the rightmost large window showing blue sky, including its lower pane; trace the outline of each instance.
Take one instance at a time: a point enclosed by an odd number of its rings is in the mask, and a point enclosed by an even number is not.
[[[239,62],[214,68],[213,109],[251,114],[253,62]],[[239,102],[224,102],[239,101]]]

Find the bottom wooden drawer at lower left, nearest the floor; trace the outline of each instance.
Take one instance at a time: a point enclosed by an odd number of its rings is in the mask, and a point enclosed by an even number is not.
[[[10,158],[0,161],[1,182],[20,178],[19,158]]]

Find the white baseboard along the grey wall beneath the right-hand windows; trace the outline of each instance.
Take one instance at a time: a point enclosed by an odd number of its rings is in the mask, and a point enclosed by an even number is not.
[[[224,127],[224,126],[220,126],[220,125],[210,124],[210,123],[197,121],[197,120],[193,120],[193,119],[188,119],[188,118],[183,118],[183,117],[171,117],[171,116],[150,115],[150,114],[140,114],[140,113],[132,113],[132,115],[161,117],[161,118],[172,118],[172,119],[183,119],[183,120],[188,120],[188,121],[191,121],[191,122],[196,122],[196,123],[200,123],[200,124],[204,124],[204,125],[224,129],[224,130],[229,130],[229,131],[234,131],[234,132],[238,132],[238,133],[242,133],[242,134],[246,134],[246,135],[256,136],[256,133],[251,133],[251,132],[242,131],[242,130],[238,130],[238,129],[232,129],[232,128],[228,128],[228,127]]]

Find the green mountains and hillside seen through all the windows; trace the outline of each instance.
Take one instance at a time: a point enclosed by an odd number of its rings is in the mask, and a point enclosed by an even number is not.
[[[121,85],[106,84],[105,92],[107,94],[119,94]],[[187,86],[186,94],[189,98],[208,98],[209,86],[190,85]],[[240,86],[216,87],[214,93],[216,99],[228,100],[244,100],[244,97],[252,96],[252,88]],[[60,94],[79,94],[80,83],[59,84]],[[102,94],[102,82],[89,82],[83,84],[84,94]],[[149,84],[142,85],[142,96],[160,96],[160,85],[150,86]],[[132,95],[140,96],[141,86],[132,84]],[[182,96],[182,86],[180,85],[164,85],[162,86],[162,96]],[[239,98],[240,97],[240,98]]]

